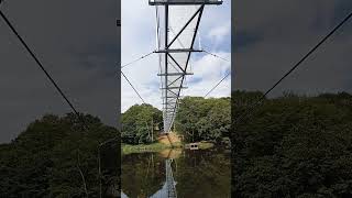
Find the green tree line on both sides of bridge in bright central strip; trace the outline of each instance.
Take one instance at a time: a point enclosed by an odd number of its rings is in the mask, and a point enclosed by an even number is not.
[[[163,128],[162,111],[151,105],[135,105],[122,113],[121,141],[127,144],[147,144],[156,140]],[[229,142],[231,99],[185,97],[175,119],[174,132],[185,142]],[[153,140],[152,134],[153,133]]]

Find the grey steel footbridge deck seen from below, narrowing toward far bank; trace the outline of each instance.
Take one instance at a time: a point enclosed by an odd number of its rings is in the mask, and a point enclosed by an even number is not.
[[[195,50],[200,19],[206,4],[222,0],[150,0],[156,8],[156,48],[160,56],[164,132],[170,132],[184,81],[189,73],[189,58]],[[164,13],[164,15],[163,15]],[[163,18],[162,18],[163,15]]]

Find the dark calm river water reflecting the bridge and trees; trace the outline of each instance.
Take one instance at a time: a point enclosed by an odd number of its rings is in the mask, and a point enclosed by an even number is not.
[[[122,156],[122,198],[228,198],[230,154],[165,150]]]

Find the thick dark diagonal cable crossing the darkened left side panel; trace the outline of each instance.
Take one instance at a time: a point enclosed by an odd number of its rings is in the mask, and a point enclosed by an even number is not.
[[[11,24],[11,22],[8,20],[8,18],[0,11],[0,15],[1,18],[6,21],[6,23],[8,24],[8,26],[11,29],[11,31],[15,34],[15,36],[20,40],[20,42],[22,43],[22,45],[25,47],[25,50],[30,53],[30,55],[33,57],[33,59],[36,62],[36,64],[40,66],[40,68],[44,72],[45,76],[50,79],[50,81],[54,85],[54,87],[56,88],[56,90],[61,94],[61,96],[65,99],[65,101],[67,102],[67,105],[73,109],[73,111],[76,113],[76,116],[81,120],[82,124],[87,128],[84,119],[81,118],[81,116],[79,114],[79,112],[76,110],[76,108],[74,107],[74,105],[68,100],[68,98],[66,97],[66,95],[64,94],[64,91],[58,87],[58,85],[55,82],[55,80],[53,79],[53,77],[48,74],[48,72],[44,68],[43,64],[38,61],[38,58],[35,56],[35,54],[33,53],[33,51],[29,47],[29,45],[24,42],[24,40],[20,36],[20,34],[16,32],[16,30],[14,29],[14,26]],[[88,128],[87,128],[88,129]]]

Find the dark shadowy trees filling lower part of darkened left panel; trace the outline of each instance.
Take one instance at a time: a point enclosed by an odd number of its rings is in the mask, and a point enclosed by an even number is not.
[[[98,145],[119,133],[98,118],[82,117],[87,131],[73,113],[47,114],[0,145],[0,197],[85,197],[82,178],[88,195],[98,195]]]

